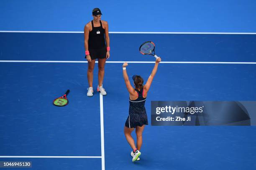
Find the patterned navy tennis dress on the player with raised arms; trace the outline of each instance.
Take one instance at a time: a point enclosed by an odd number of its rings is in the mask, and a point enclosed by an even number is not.
[[[135,89],[138,93],[138,99],[130,100],[129,116],[125,122],[127,128],[136,128],[136,126],[148,125],[148,116],[145,109],[146,98],[143,98],[143,88],[141,91]]]

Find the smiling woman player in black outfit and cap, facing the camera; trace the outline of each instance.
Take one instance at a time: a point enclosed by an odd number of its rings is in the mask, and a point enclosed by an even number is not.
[[[97,91],[102,95],[107,95],[107,92],[102,87],[102,82],[105,62],[106,59],[110,57],[110,39],[108,35],[108,23],[107,21],[100,20],[101,15],[102,13],[100,9],[94,8],[92,10],[93,20],[84,26],[84,48],[86,59],[88,61],[87,79],[89,83],[87,96],[93,95],[92,81],[96,59],[98,60],[99,68]]]

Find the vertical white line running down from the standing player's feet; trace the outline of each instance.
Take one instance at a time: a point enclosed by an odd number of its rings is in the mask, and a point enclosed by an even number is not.
[[[100,94],[101,167],[105,170],[103,96]]]

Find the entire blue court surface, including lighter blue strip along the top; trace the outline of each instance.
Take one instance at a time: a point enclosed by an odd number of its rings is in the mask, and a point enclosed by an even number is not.
[[[152,126],[151,101],[256,101],[256,3],[108,3],[1,2],[0,162],[30,161],[35,170],[255,170],[255,126]],[[96,91],[96,63],[87,97],[82,30],[94,7],[109,23],[108,95]],[[145,104],[141,159],[133,163],[122,65],[128,62],[131,82],[135,74],[145,82],[155,58],[139,46],[148,40],[161,62]],[[54,106],[67,89],[69,104]]]

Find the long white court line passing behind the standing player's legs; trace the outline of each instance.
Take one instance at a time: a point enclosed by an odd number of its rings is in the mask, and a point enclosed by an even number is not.
[[[86,63],[87,61],[0,60],[0,62]],[[154,61],[106,61],[106,63],[124,63],[124,62],[128,62],[128,63],[155,63]],[[201,61],[161,61],[160,63],[171,63],[171,64],[256,64],[256,62],[201,62]]]

